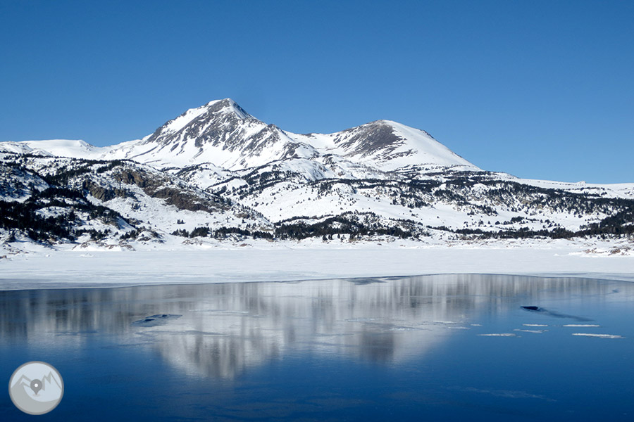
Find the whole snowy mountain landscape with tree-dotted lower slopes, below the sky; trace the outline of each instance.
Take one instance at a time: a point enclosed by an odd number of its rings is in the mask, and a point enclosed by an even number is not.
[[[293,134],[229,98],[113,146],[0,143],[0,171],[5,242],[634,233],[634,184],[486,172],[426,132],[389,120]]]

